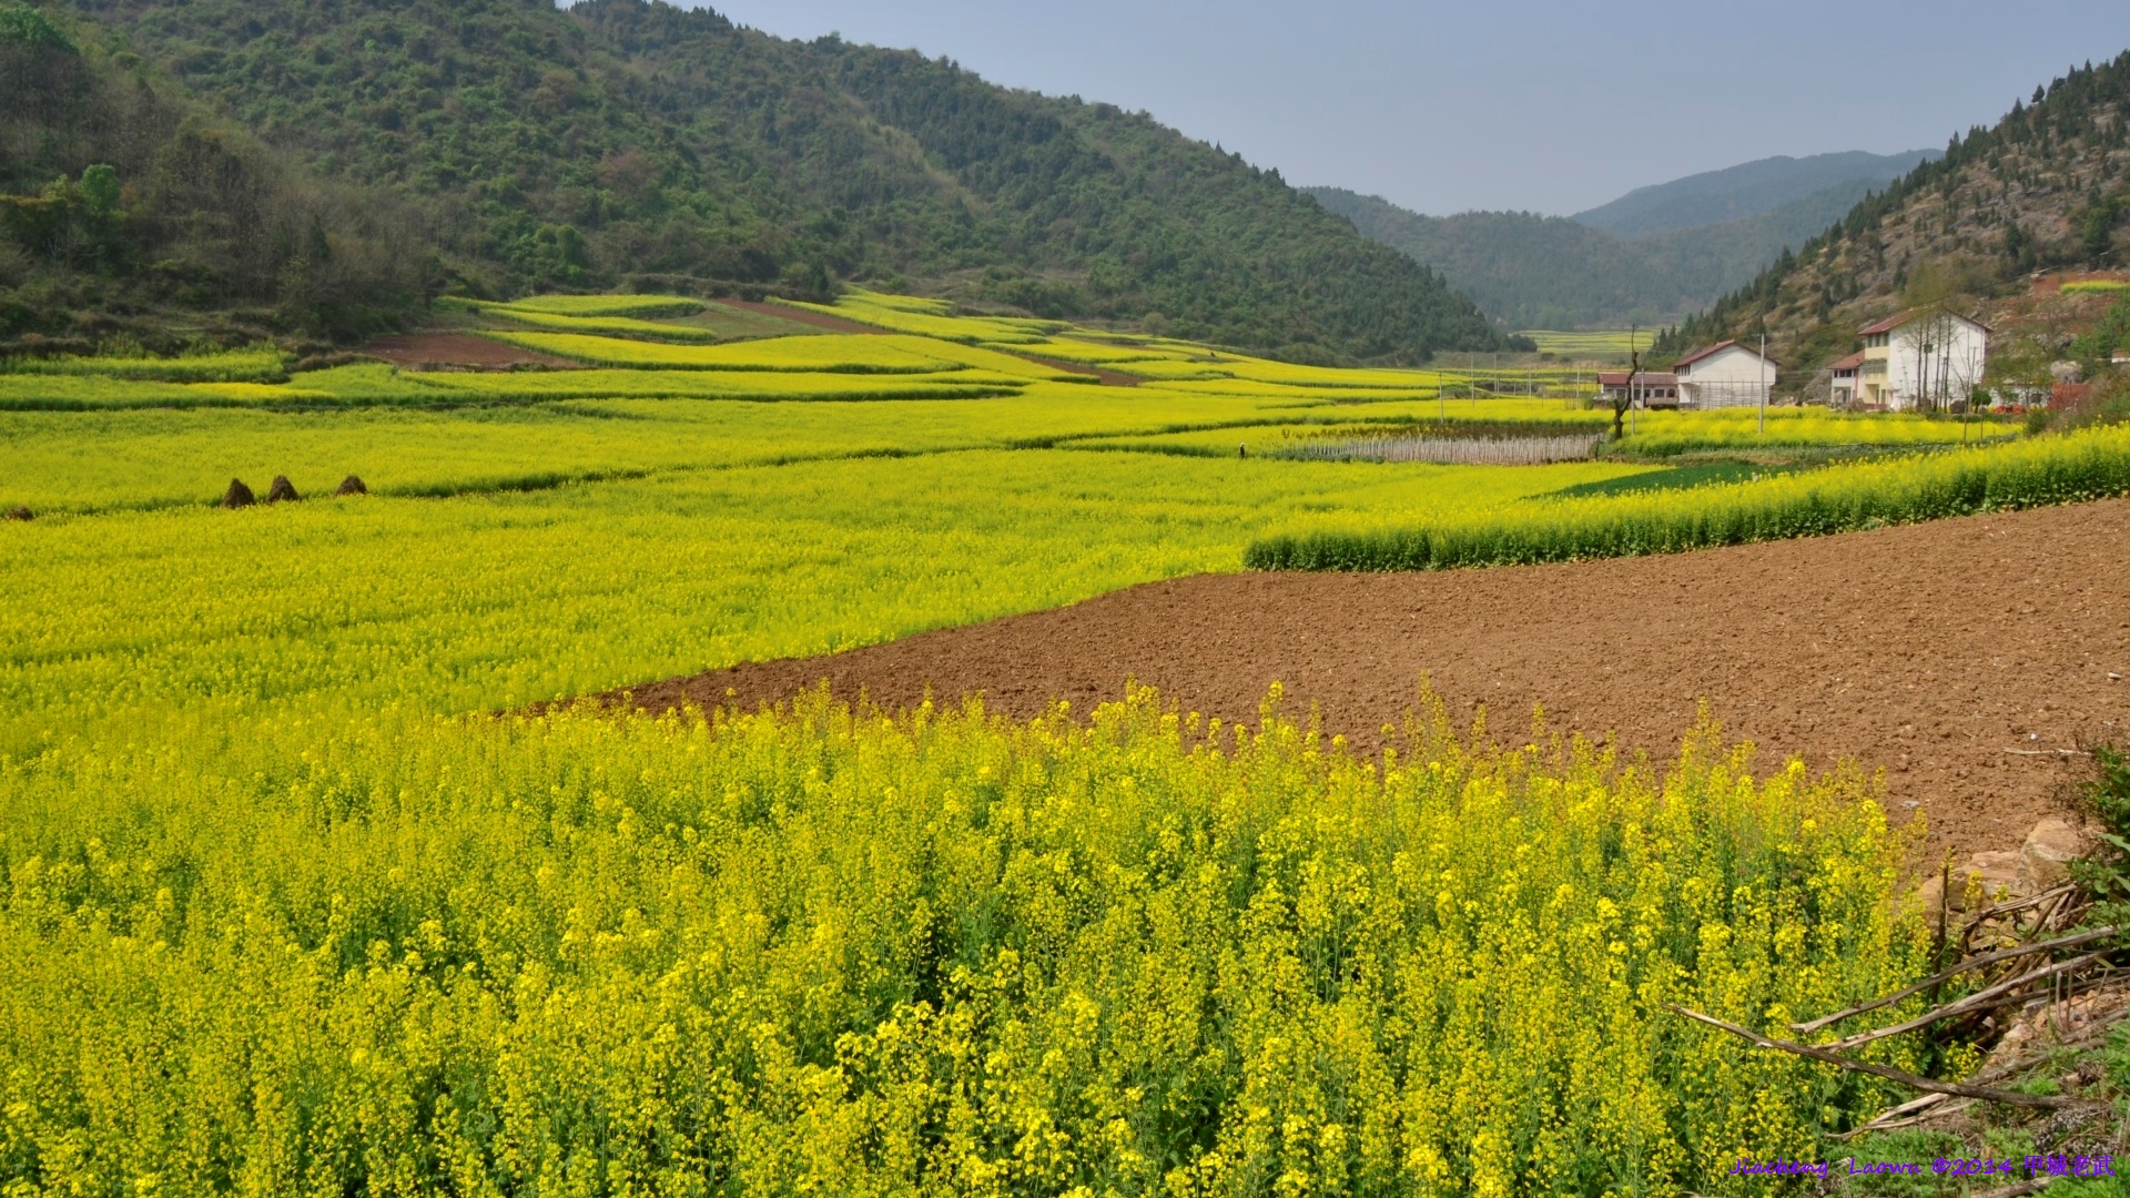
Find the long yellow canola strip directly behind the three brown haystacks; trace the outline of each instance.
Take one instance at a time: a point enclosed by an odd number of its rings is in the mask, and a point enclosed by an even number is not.
[[[575,384],[590,373],[437,377]],[[692,384],[741,377],[697,371],[633,375],[641,377],[628,382],[654,384],[654,392],[665,390],[656,386],[660,379]],[[850,375],[835,377],[852,382]],[[790,375],[769,379],[786,382]],[[890,375],[878,384],[901,386],[897,379],[901,377]],[[573,390],[611,394],[620,388],[592,382]],[[230,477],[258,482],[277,473],[294,480],[302,495],[332,490],[349,473],[377,495],[469,495],[662,471],[1012,450],[1120,435],[1161,437],[1191,428],[1214,431],[1206,433],[1212,437],[1208,443],[1227,441],[1227,452],[1233,452],[1233,437],[1257,426],[1289,431],[1299,420],[1350,420],[1321,403],[1291,407],[1218,394],[1150,399],[1142,388],[1067,384],[1035,384],[982,401],[790,403],[701,399],[699,390],[679,394],[690,399],[562,396],[552,403],[473,405],[479,394],[469,392],[466,405],[449,407],[445,401],[458,396],[441,392],[422,407],[341,411],[196,407],[0,414],[0,499],[26,503],[38,514],[170,507],[213,503]],[[83,443],[94,443],[96,452],[83,454]]]

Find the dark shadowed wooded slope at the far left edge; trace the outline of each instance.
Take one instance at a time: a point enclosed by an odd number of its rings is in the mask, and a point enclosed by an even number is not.
[[[77,34],[0,2],[0,339],[360,337],[420,307],[400,205],[309,177]]]

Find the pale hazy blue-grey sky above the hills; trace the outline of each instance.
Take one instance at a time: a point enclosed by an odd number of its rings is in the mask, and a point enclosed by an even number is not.
[[[1146,109],[1448,213],[1574,213],[1772,153],[1943,147],[2130,47],[2130,0],[722,0],[771,34],[916,47]]]

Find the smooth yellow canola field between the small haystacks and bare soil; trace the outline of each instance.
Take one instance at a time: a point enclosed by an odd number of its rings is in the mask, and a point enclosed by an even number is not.
[[[460,714],[835,652],[1634,471],[967,450],[0,524],[0,757],[194,701]]]

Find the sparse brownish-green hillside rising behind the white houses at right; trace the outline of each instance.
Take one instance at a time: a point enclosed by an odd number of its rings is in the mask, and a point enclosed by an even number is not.
[[[1768,328],[1785,384],[1902,307],[1977,307],[2043,269],[2121,269],[2130,224],[2130,51],[2081,66],[1994,128],[1953,136],[1883,194],[1687,320],[1659,350]]]

